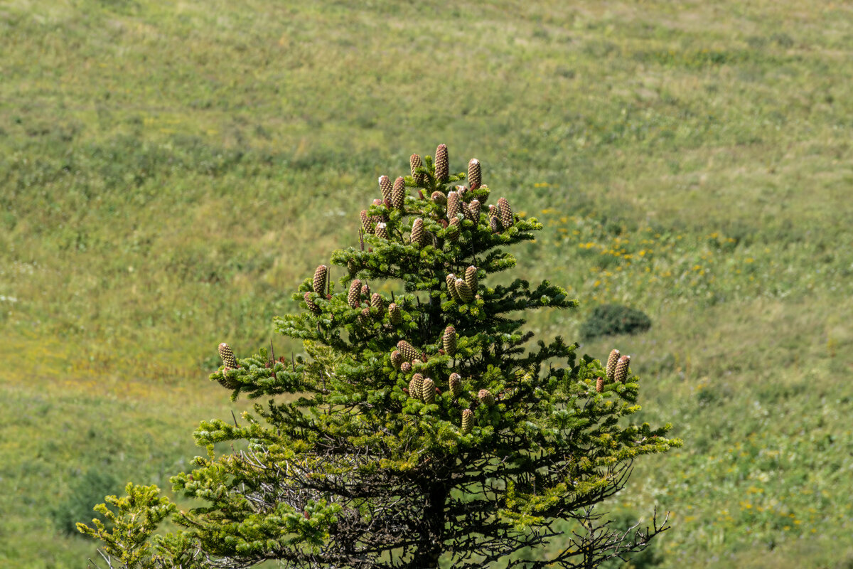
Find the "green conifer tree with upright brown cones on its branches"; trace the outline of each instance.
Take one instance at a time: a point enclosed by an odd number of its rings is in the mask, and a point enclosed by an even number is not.
[[[171,481],[204,506],[178,511],[129,486],[104,511],[111,530],[79,526],[111,566],[589,567],[666,529],[612,530],[595,505],[623,488],[635,457],[680,441],[630,422],[640,407],[627,358],[614,380],[577,344],[528,345],[520,312],[577,301],[547,281],[490,276],[543,226],[504,197],[480,208],[479,161],[451,174],[444,145],[437,155],[438,175],[415,154],[408,177],[380,177],[358,246],[305,278],[293,294],[305,311],[276,319],[306,357],[220,346],[228,361],[212,380],[268,403],[194,433],[208,456]],[[223,442],[245,450],[218,456]],[[154,535],[167,513],[183,530]],[[549,559],[514,555],[552,542]]]

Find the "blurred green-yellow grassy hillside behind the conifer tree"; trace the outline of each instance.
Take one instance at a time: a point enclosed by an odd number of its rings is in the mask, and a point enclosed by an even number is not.
[[[612,505],[674,512],[660,566],[853,565],[853,9],[365,4],[0,2],[0,566],[82,566],[75,492],[168,485],[244,405],[218,342],[439,142],[546,223],[517,272],[582,308],[538,332],[652,317],[583,348],[685,440]]]

